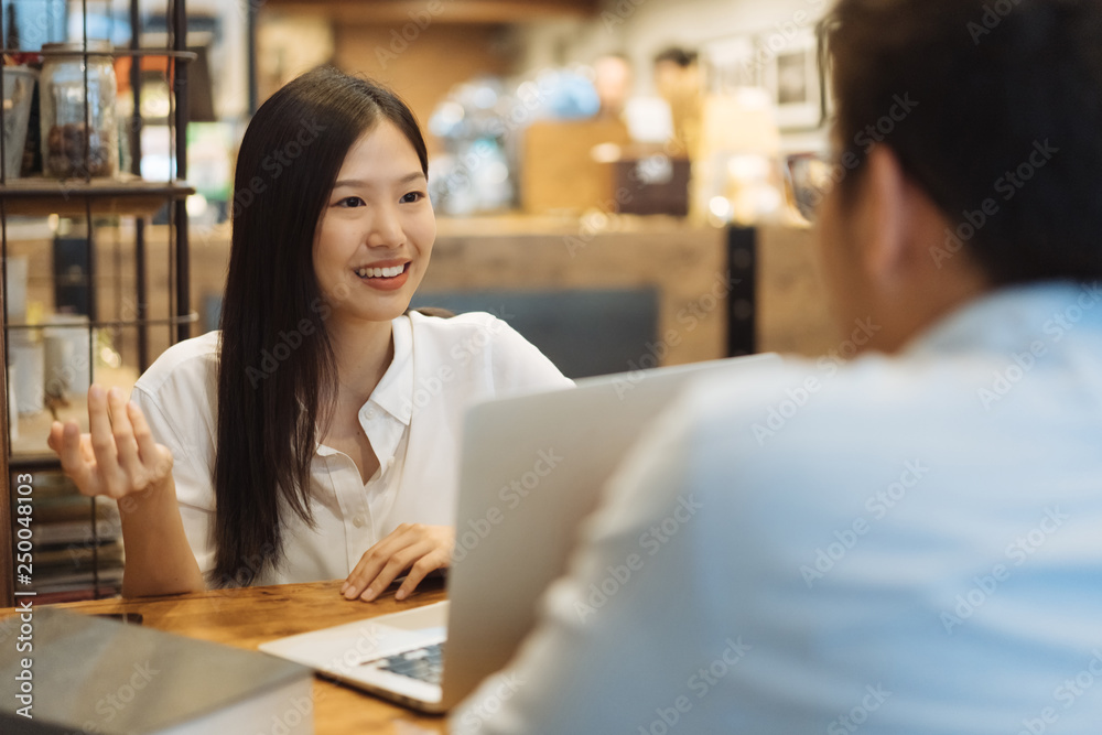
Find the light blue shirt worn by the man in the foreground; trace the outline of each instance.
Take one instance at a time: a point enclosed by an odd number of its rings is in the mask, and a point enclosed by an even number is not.
[[[698,382],[608,493],[456,732],[1102,732],[1096,284]]]

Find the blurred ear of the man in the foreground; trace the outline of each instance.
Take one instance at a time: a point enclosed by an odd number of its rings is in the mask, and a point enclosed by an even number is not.
[[[911,253],[908,237],[915,191],[887,145],[868,151],[861,182],[862,268],[877,289],[894,289]]]

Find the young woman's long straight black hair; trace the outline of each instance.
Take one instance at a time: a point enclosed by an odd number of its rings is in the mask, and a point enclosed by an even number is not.
[[[241,141],[222,312],[214,586],[278,568],[287,514],[313,522],[310,465],[336,385],[314,237],[345,155],[380,120],[401,130],[428,175],[406,104],[328,67],[277,91]]]

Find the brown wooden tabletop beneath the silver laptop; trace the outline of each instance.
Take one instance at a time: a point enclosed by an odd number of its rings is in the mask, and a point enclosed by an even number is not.
[[[214,590],[166,597],[99,599],[52,607],[88,614],[141,613],[142,625],[238,648],[307,630],[352,623],[446,599],[441,580],[426,580],[404,602],[392,587],[374,603],[341,597],[343,580],[244,590]],[[0,618],[14,610],[0,609]],[[316,735],[424,735],[447,732],[444,717],[418,715],[358,690],[314,680]]]

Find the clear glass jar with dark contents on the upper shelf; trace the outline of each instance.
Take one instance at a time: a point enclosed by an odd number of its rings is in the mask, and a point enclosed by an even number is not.
[[[118,171],[118,80],[111,44],[88,42],[87,98],[83,51],[80,43],[42,46],[42,169],[47,176],[114,176]]]

